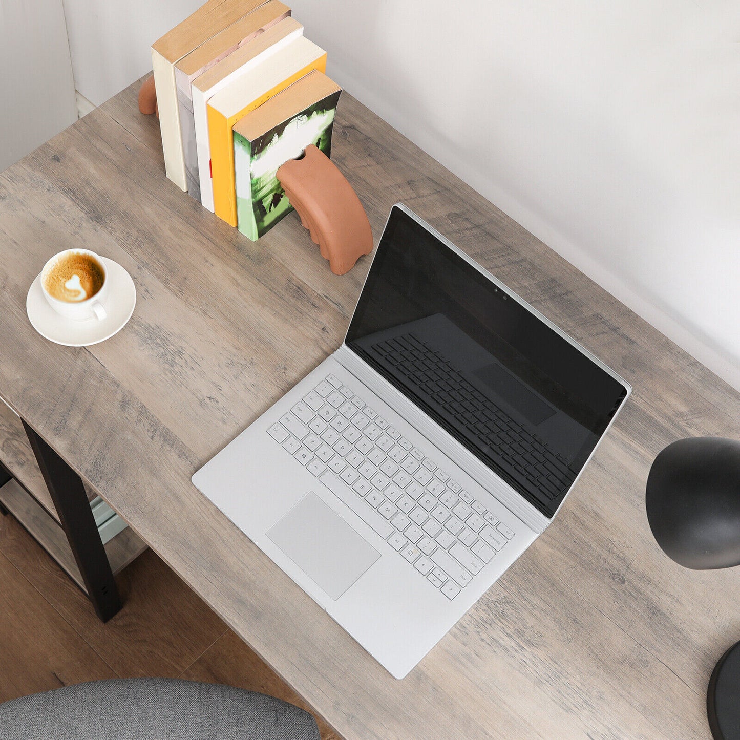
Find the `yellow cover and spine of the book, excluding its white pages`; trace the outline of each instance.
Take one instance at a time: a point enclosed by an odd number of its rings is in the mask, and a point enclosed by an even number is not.
[[[237,121],[240,121],[247,113],[255,110],[265,101],[277,95],[281,90],[292,85],[296,80],[307,75],[312,70],[326,72],[326,53],[306,64],[302,70],[299,70],[290,77],[286,78],[280,84],[275,85],[272,90],[268,90],[260,95],[257,100],[252,101],[247,107],[242,108],[236,115],[231,116],[228,120],[217,110],[208,107],[208,130],[211,142],[211,166],[213,171],[213,203],[215,214],[222,218],[226,223],[237,226],[236,215],[236,182],[234,174],[234,137],[232,129]],[[214,114],[212,116],[212,114]],[[218,120],[217,119],[218,116]],[[217,129],[212,129],[212,120]]]

